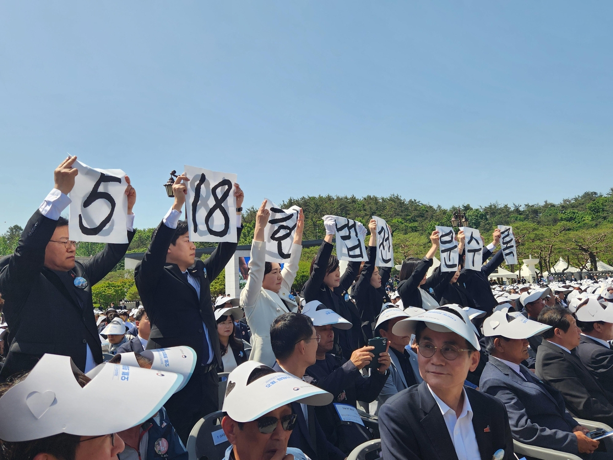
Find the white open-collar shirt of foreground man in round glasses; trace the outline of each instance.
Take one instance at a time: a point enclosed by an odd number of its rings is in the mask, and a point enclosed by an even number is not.
[[[427,386],[443,414],[443,419],[447,425],[449,436],[451,436],[451,440],[454,443],[458,460],[481,460],[479,445],[474,434],[473,408],[470,406],[470,401],[468,401],[466,390],[462,388],[463,405],[462,412],[458,417],[455,416],[455,410],[445,404],[440,397],[436,396],[430,385]]]

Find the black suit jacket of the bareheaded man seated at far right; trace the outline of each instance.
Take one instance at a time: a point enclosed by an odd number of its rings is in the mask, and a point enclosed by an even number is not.
[[[613,394],[596,381],[579,356],[543,340],[536,352],[536,375],[562,393],[573,415],[613,423]]]

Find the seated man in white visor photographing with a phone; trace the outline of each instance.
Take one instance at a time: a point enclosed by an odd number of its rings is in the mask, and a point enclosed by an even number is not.
[[[349,454],[356,446],[372,439],[356,404],[375,401],[386,383],[391,364],[387,339],[370,339],[368,346],[351,353],[351,359],[335,356],[330,353],[334,347],[334,329],[349,329],[351,323],[319,301],[308,302],[302,313],[311,318],[320,337],[316,362],[307,367],[305,381],[334,396],[331,404],[316,407],[315,413],[330,442]],[[370,375],[363,377],[361,371],[367,366]]]

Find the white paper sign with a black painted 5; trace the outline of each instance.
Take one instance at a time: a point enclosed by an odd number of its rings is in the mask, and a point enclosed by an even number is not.
[[[127,243],[126,173],[121,169],[94,169],[80,161],[75,161],[74,167],[78,174],[70,191],[70,239]]]

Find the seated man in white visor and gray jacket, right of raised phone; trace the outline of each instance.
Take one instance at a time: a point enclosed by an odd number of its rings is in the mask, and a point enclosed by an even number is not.
[[[409,386],[422,383],[423,379],[419,375],[419,366],[417,365],[417,355],[408,346],[411,335],[395,335],[392,332],[394,324],[398,321],[409,318],[409,316],[419,315],[422,312],[425,312],[425,310],[416,307],[409,307],[403,311],[395,307],[385,309],[384,306],[384,310],[379,315],[375,325],[375,337],[387,337],[392,364],[389,367],[389,377],[387,377],[381,393],[369,405],[371,414],[378,415],[379,407],[389,397],[400,393]]]

